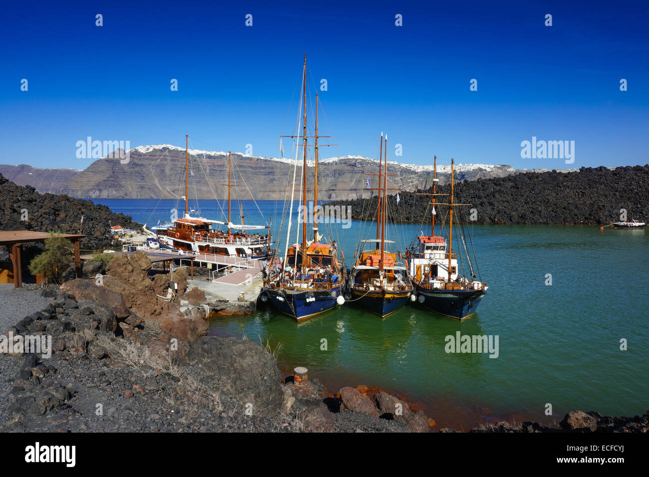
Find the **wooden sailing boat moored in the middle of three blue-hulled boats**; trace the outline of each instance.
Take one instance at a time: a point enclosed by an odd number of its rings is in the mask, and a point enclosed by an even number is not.
[[[381,133],[382,152],[384,145]],[[382,153],[379,158],[382,159]],[[383,164],[383,162],[385,164]],[[356,262],[349,274],[351,299],[380,317],[386,317],[404,306],[410,299],[413,287],[408,269],[394,248],[394,241],[386,240],[387,219],[387,135],[385,161],[379,162],[378,208],[376,211],[376,239],[362,240],[354,254]],[[383,170],[382,170],[383,169]],[[381,184],[381,181],[383,183]]]

